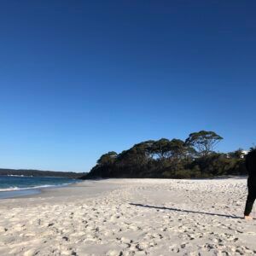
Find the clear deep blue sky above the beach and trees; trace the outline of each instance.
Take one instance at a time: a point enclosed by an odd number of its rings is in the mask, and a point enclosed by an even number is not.
[[[1,1],[0,167],[89,171],[148,139],[256,143],[255,1]]]

